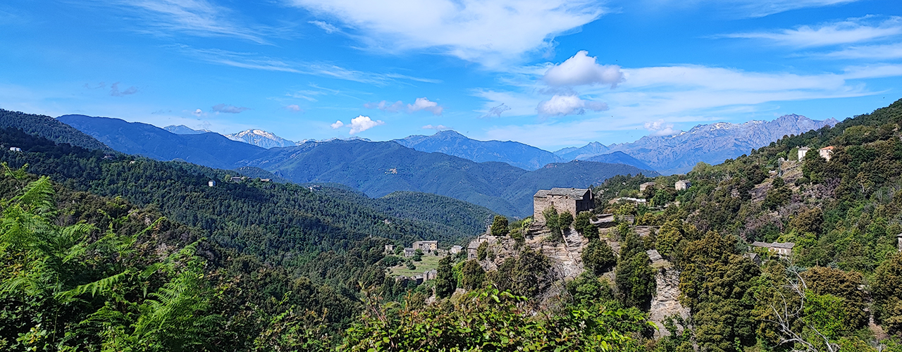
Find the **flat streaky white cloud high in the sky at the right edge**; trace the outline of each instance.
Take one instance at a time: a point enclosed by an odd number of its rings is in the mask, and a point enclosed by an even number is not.
[[[853,18],[820,26],[799,26],[778,32],[744,32],[723,34],[722,38],[765,39],[795,47],[821,47],[873,41],[902,34],[902,17],[893,16],[875,25],[867,24],[868,18]]]

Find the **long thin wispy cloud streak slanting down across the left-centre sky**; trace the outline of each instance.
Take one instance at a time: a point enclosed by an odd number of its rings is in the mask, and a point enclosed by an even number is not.
[[[194,49],[186,45],[174,46],[182,53],[209,63],[231,66],[235,68],[260,69],[265,71],[290,72],[318,77],[331,77],[348,81],[384,86],[389,83],[415,81],[440,83],[440,80],[410,77],[397,73],[373,73],[339,67],[327,62],[297,62],[276,59],[253,52],[236,52],[218,49]]]

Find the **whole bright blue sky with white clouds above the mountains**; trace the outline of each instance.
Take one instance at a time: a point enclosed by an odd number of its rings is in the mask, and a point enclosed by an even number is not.
[[[555,150],[868,113],[902,98],[899,16],[897,0],[12,0],[0,107]]]

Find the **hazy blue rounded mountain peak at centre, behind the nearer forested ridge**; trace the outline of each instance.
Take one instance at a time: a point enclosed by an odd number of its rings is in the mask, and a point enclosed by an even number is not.
[[[500,161],[527,170],[565,161],[547,150],[520,142],[472,140],[456,131],[438,131],[431,136],[416,135],[394,141],[404,147],[428,153],[439,152],[475,162]]]

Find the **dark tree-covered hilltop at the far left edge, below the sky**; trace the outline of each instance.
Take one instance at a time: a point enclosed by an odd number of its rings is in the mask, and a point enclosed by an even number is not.
[[[69,143],[85,149],[112,150],[84,132],[50,116],[0,109],[0,128],[7,127],[14,127],[57,143]]]

